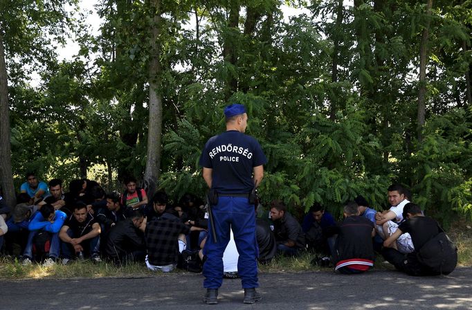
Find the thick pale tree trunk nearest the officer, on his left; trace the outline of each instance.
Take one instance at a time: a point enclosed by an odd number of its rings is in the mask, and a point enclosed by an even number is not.
[[[156,191],[161,165],[162,98],[161,98],[161,0],[151,0],[153,24],[151,26],[151,61],[149,64],[149,129],[147,131],[147,160],[144,187],[147,196]]]

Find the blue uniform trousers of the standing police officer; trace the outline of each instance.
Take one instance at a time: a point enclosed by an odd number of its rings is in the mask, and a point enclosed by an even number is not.
[[[237,271],[242,287],[250,289],[259,286],[257,279],[257,257],[259,251],[255,238],[255,210],[246,197],[219,197],[212,207],[218,243],[215,243],[211,223],[208,224],[208,239],[203,248],[206,262],[203,264],[203,286],[218,289],[223,282],[223,253],[233,230],[239,253]]]

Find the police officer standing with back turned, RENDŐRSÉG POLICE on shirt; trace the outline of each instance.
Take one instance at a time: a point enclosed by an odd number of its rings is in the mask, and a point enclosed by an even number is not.
[[[255,237],[255,209],[249,194],[259,185],[267,162],[260,144],[246,136],[248,116],[242,104],[231,104],[224,109],[226,131],[208,140],[200,158],[203,179],[217,193],[212,201],[215,242],[212,233],[203,248],[203,286],[207,289],[203,301],[217,304],[218,289],[223,282],[223,253],[233,230],[239,259],[237,270],[244,289],[244,303],[261,300],[255,288],[257,280],[257,242]],[[208,228],[211,231],[211,228]]]

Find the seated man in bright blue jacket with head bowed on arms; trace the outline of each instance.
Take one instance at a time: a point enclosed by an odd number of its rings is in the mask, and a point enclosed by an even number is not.
[[[23,265],[28,266],[33,259],[33,243],[39,234],[50,240],[48,258],[44,261],[44,266],[55,264],[59,258],[60,240],[59,231],[66,220],[66,214],[60,210],[54,210],[51,205],[44,205],[39,212],[36,212],[33,219],[28,224],[28,241],[23,253]],[[47,250],[47,249],[46,249]]]

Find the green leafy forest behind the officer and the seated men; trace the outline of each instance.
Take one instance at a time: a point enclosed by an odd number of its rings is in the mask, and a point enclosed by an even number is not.
[[[282,5],[300,14],[283,18]],[[472,1],[0,0],[0,183],[92,176],[202,196],[204,143],[248,109],[262,201],[336,215],[401,183],[428,215],[472,217]],[[72,60],[57,46],[73,37]],[[33,76],[39,82],[33,83]],[[101,168],[100,168],[101,167]]]

